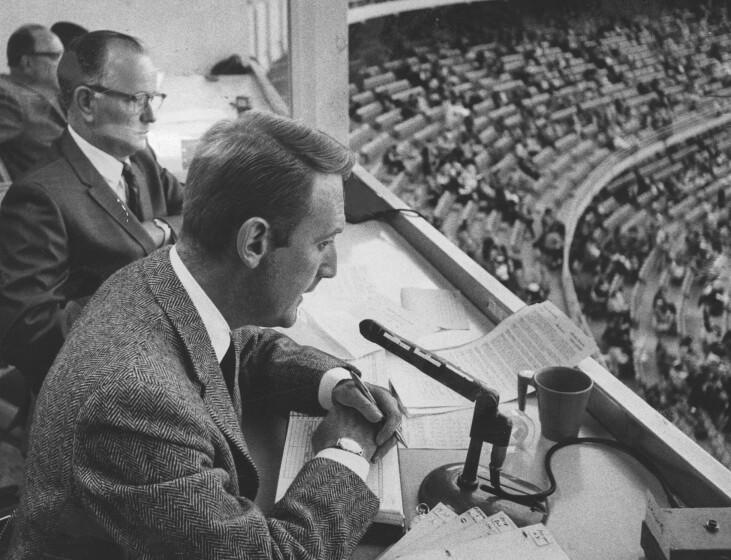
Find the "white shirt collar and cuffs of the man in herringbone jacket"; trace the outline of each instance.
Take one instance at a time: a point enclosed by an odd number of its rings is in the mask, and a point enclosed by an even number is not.
[[[208,294],[206,294],[196,279],[193,278],[193,275],[185,264],[183,264],[175,246],[170,249],[170,264],[180,283],[183,285],[183,288],[188,293],[190,300],[193,302],[193,306],[198,311],[203,326],[211,339],[211,345],[213,346],[213,351],[216,353],[216,359],[220,364],[231,343],[231,330],[229,329],[228,323],[216,305],[211,301],[211,298],[208,297]],[[350,379],[350,372],[344,368],[333,368],[325,372],[325,375],[322,376],[317,397],[320,405],[324,409],[330,410],[332,408],[332,390],[335,388],[335,385],[344,379]],[[320,451],[317,457],[337,461],[354,471],[363,480],[366,480],[368,477],[368,471],[370,470],[368,460],[349,451],[329,447]]]

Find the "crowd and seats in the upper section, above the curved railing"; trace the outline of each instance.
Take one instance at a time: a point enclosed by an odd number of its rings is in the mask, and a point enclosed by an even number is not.
[[[395,112],[399,122],[422,116],[422,126],[435,119],[441,125],[433,134],[395,136],[375,159],[361,152],[363,163],[384,183],[396,185],[397,194],[465,252],[498,271],[505,285],[526,296],[532,282],[520,274],[524,239],[540,251],[541,266],[561,264],[564,228],[550,215],[561,196],[552,198],[549,191],[561,190],[555,183],[566,169],[550,167],[562,149],[585,143],[569,169],[586,174],[591,165],[582,159],[592,163],[592,156],[599,156],[593,160],[597,163],[611,151],[638,145],[644,133],[663,130],[707,105],[700,94],[729,85],[717,48],[728,30],[725,14],[711,21],[705,6],[694,8],[638,20],[587,11],[563,18],[552,12],[543,19],[528,10],[497,18],[493,27],[486,21],[494,17],[475,18],[475,13],[494,7],[459,6],[427,16],[440,22],[436,28],[423,26],[429,29],[429,47],[413,36],[416,24],[407,37],[403,18],[386,18],[377,47],[365,50],[363,63],[353,67],[352,83],[363,91],[374,67],[388,68],[395,82],[408,83],[410,93],[373,88],[377,114]],[[357,54],[357,30],[351,40]],[[627,45],[632,48],[623,48]],[[699,52],[705,54],[702,62]],[[500,86],[505,83],[508,87]],[[362,106],[351,101],[353,128],[378,130],[373,119],[363,118]],[[574,141],[566,142],[570,137]],[[576,174],[562,196],[581,177]],[[539,219],[550,218],[555,225],[539,228]],[[473,227],[479,220],[490,227]],[[499,235],[501,228],[508,234]],[[515,245],[508,242],[511,234]],[[618,255],[623,241],[615,239]],[[636,264],[614,262],[630,273]],[[543,283],[542,291],[546,288]]]

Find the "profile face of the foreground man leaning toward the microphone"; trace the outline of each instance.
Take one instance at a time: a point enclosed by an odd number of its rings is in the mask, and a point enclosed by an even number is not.
[[[345,227],[343,181],[339,175],[315,175],[310,212],[294,228],[289,245],[273,249],[262,262],[261,326],[291,327],[302,294],[337,272],[335,236]]]

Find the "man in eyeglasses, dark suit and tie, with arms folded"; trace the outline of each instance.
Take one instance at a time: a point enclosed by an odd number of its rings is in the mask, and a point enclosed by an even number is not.
[[[158,76],[133,37],[75,41],[58,66],[68,127],[0,206],[0,354],[35,391],[88,297],[179,229],[180,184],[147,145]]]

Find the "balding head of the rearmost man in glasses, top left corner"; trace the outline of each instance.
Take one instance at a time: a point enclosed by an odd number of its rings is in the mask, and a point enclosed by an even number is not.
[[[62,54],[61,40],[42,25],[23,25],[8,39],[10,73],[41,89],[58,91],[56,69]]]

